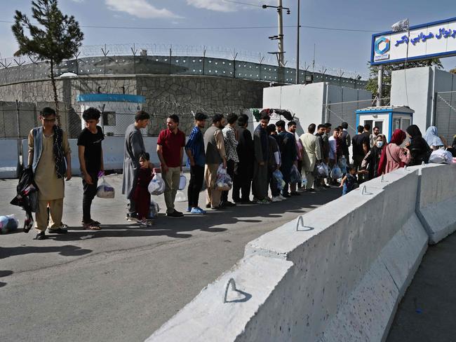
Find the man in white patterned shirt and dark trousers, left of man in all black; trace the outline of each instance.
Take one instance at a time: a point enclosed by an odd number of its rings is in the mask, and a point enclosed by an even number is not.
[[[224,139],[224,149],[227,153],[227,174],[234,179],[234,168],[239,163],[237,152],[238,140],[236,132],[236,120],[238,116],[234,113],[227,115],[227,125],[224,126],[222,133]],[[222,205],[224,207],[233,207],[236,205],[228,200],[229,191],[222,192]]]

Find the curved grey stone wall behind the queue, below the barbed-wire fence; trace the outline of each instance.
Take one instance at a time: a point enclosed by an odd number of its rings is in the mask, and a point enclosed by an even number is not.
[[[243,108],[261,107],[262,89],[267,86],[267,82],[214,76],[78,76],[57,80],[62,125],[70,137],[76,137],[81,127],[80,107],[76,102],[79,94],[143,95],[146,103],[142,108],[152,116],[149,135],[158,135],[166,127],[166,117],[170,114],[180,116],[180,128],[188,135],[193,125],[192,111],[212,115],[232,111],[240,113]],[[53,107],[51,81],[27,81],[0,86],[0,101],[15,100],[27,102],[27,106],[21,105],[23,108],[29,107],[29,104],[34,104],[38,110],[44,104]],[[35,110],[33,115],[36,116],[36,113]]]

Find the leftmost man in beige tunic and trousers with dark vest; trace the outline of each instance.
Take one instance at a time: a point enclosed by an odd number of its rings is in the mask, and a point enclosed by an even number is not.
[[[67,133],[55,125],[54,109],[43,108],[39,119],[41,127],[29,132],[28,165],[32,167],[34,181],[38,186],[35,228],[39,233],[36,240],[44,240],[46,228],[49,233],[67,233],[67,229],[62,225],[65,197],[63,179],[66,177],[69,181],[72,178],[72,151],[69,149]],[[48,205],[51,218],[48,217]]]

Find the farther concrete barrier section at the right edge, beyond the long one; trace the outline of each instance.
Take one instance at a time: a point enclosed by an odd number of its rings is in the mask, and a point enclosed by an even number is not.
[[[420,169],[416,210],[434,244],[456,231],[456,164]]]

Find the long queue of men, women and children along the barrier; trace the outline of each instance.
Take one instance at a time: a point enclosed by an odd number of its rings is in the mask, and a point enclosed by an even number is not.
[[[93,231],[100,230],[100,222],[92,218],[90,207],[97,193],[98,179],[104,175],[100,115],[95,108],[83,112],[86,128],[77,140],[83,186],[81,224],[84,229]],[[38,189],[35,228],[39,233],[36,239],[42,240],[46,238],[46,229],[49,233],[67,233],[67,227],[62,223],[64,179],[71,179],[72,172],[67,135],[55,124],[55,111],[46,107],[39,118],[41,126],[31,130],[28,137],[28,165],[33,170]],[[146,226],[151,225],[151,198],[147,186],[157,172],[150,162],[141,133],[149,120],[147,112],[138,111],[135,123],[126,129],[122,182],[122,194],[128,199],[126,219]],[[175,114],[168,116],[167,127],[159,134],[156,153],[160,165],[157,169],[165,183],[166,217],[184,217],[175,209],[184,153],[190,169],[189,214],[206,214],[208,209],[222,210],[251,203],[276,203],[330,185],[340,186],[342,194],[346,194],[356,183],[404,165],[427,163],[432,151],[446,149],[456,154],[456,138],[452,146],[447,146],[434,126],[428,128],[424,137],[417,125],[410,125],[405,132],[394,130],[388,143],[380,128],[373,128],[373,134],[370,134],[370,125],[358,126],[358,134],[350,137],[345,122],[333,129],[330,123],[318,126],[311,123],[307,132],[297,137],[295,121],[289,121],[287,125],[282,120],[275,125],[269,124],[268,114],[261,116],[260,124],[253,132],[248,130],[245,114],[228,114],[226,118],[215,114],[206,129],[208,120],[206,114],[195,114],[194,128],[187,143],[185,133],[179,128],[179,116]],[[403,146],[407,137],[409,142]],[[352,146],[353,164],[349,164],[349,146]],[[216,186],[220,167],[233,180],[231,200],[229,191]],[[333,177],[330,175],[333,172],[328,172],[335,167],[343,170],[340,177]],[[279,179],[277,174],[281,175]],[[279,181],[283,182],[281,186]],[[206,187],[204,210],[199,206],[203,187]]]

